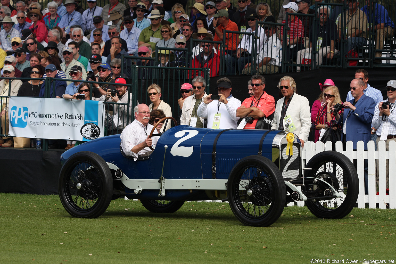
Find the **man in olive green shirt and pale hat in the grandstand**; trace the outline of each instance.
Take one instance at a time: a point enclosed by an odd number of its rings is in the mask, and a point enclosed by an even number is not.
[[[142,30],[139,36],[138,46],[151,47],[151,50],[155,50],[156,43],[162,40],[161,34],[161,20],[164,15],[160,15],[160,11],[154,9],[150,15],[147,16],[151,20],[151,25]]]

